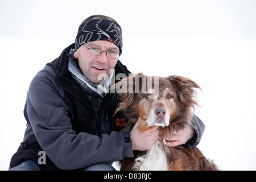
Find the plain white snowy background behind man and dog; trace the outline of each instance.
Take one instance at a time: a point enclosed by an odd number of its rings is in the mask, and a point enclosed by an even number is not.
[[[200,150],[223,170],[255,170],[255,12],[254,0],[0,0],[0,169],[23,140],[31,79],[75,41],[82,20],[104,14],[122,27],[119,59],[131,72],[201,86]]]

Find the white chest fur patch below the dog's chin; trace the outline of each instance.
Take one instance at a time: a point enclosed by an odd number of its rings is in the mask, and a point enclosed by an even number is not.
[[[166,171],[167,158],[163,144],[156,142],[146,155],[136,158],[133,169],[140,171]]]

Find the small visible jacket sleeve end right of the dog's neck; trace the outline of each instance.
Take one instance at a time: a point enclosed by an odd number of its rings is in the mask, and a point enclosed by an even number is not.
[[[205,128],[204,123],[195,114],[193,114],[192,123],[194,126],[194,137],[184,144],[185,147],[189,148],[195,148],[200,143]]]

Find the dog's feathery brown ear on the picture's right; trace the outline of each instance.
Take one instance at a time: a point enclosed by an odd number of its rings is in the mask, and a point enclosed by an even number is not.
[[[196,101],[197,90],[200,89],[200,86],[196,84],[195,81],[190,80],[189,78],[181,77],[181,76],[169,76],[167,77],[174,86],[174,89],[177,94],[177,98],[182,105],[182,107],[193,107],[195,105],[199,106]],[[195,108],[194,108],[195,109]]]

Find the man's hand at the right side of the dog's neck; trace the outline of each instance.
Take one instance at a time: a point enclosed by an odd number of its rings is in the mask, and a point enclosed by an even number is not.
[[[166,141],[166,145],[168,147],[180,146],[181,144],[185,144],[192,137],[193,137],[192,127],[185,127],[184,129],[181,129],[179,131],[174,131],[171,137],[166,138],[166,140],[172,141],[172,142]]]

